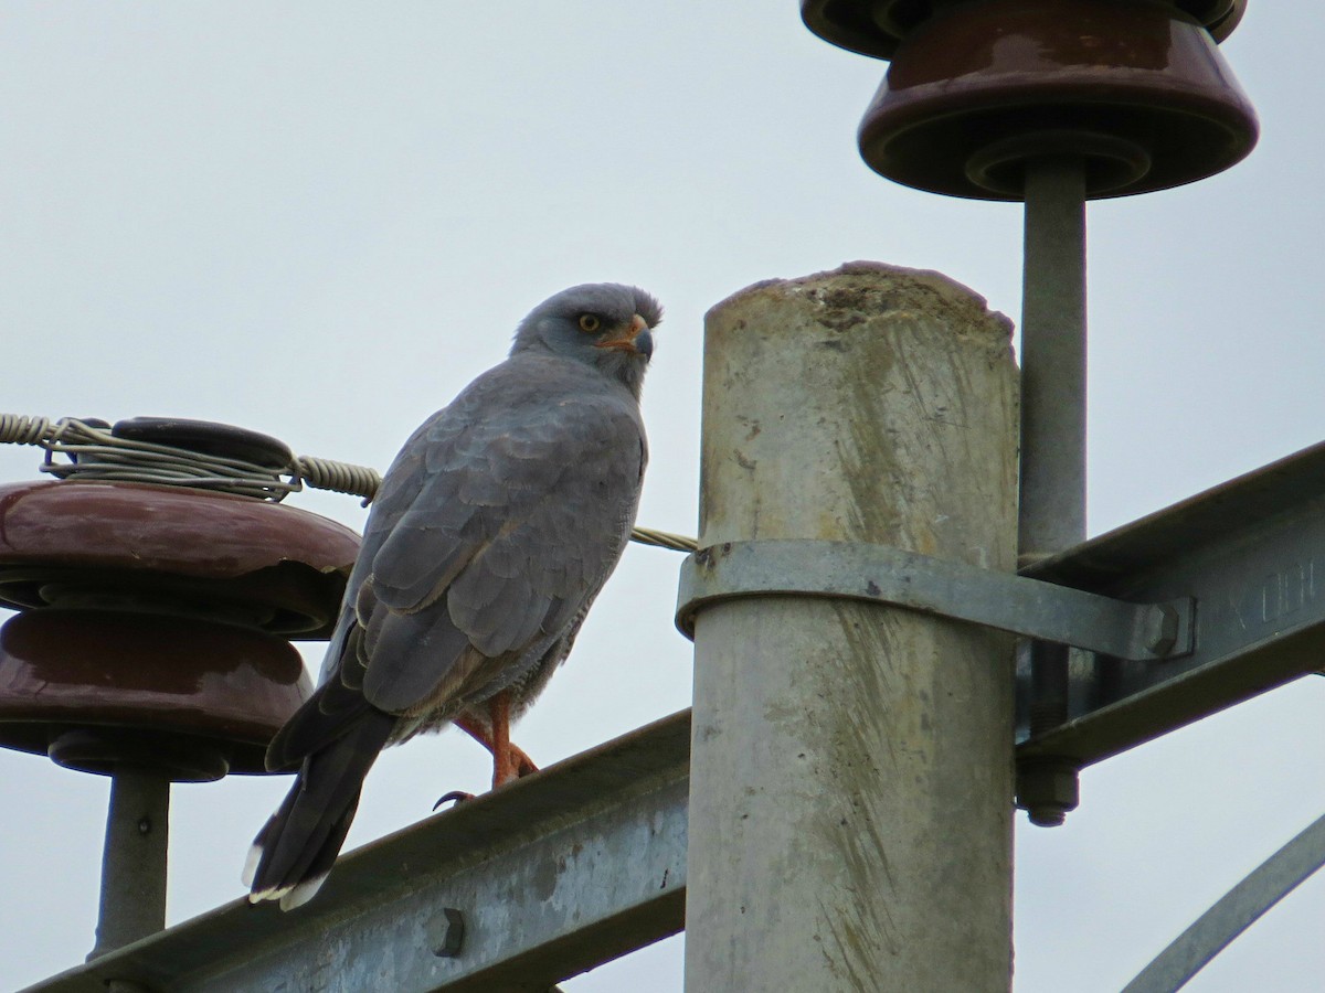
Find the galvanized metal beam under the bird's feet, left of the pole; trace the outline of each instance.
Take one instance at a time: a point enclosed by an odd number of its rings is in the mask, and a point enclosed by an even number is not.
[[[689,739],[674,714],[350,853],[298,911],[237,900],[28,993],[543,993],[684,927]]]

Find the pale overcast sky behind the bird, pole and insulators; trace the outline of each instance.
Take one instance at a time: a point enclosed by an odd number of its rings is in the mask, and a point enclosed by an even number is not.
[[[1252,3],[1223,50],[1260,114],[1252,156],[1089,211],[1092,534],[1325,437],[1325,9]],[[884,70],[790,1],[0,0],[0,408],[212,420],[384,469],[535,303],[631,282],[666,306],[640,523],[694,534],[706,308],[868,258],[1020,311],[1018,205],[861,163]],[[4,446],[0,481],[37,478],[40,454]],[[678,564],[627,552],[518,727],[535,760],[689,706]],[[1318,817],[1322,708],[1325,679],[1304,679],[1086,769],[1063,828],[1018,814],[1016,992],[1117,990]],[[454,731],[387,752],[348,847],[486,776]],[[171,923],[241,894],[286,786],[174,789]],[[0,752],[0,989],[91,948],[107,792]],[[1318,989],[1322,919],[1317,876],[1189,989]],[[672,939],[563,985],[678,990],[681,955]]]

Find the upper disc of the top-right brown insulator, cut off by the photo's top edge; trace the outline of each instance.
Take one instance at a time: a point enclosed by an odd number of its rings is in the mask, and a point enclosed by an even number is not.
[[[926,20],[947,7],[971,1],[800,0],[800,19],[829,44],[873,58],[892,58],[902,40]],[[1232,34],[1247,11],[1247,0],[1167,0],[1167,5],[1195,17],[1215,41]]]

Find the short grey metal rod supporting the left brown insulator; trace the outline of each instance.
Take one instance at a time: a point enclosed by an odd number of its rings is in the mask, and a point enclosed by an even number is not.
[[[101,863],[97,947],[87,960],[166,927],[166,849],[170,780],[155,769],[118,765]]]

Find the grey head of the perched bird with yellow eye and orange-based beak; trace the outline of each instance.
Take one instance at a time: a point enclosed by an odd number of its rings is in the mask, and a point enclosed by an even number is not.
[[[547,351],[602,369],[639,396],[662,307],[620,283],[586,283],[539,303],[515,331],[511,355]]]

